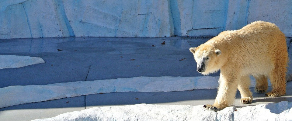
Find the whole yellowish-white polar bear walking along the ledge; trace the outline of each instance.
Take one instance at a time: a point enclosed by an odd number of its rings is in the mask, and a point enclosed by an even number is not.
[[[196,70],[201,74],[221,71],[215,103],[204,105],[207,110],[219,111],[233,103],[237,89],[240,102],[251,103],[249,75],[256,79],[255,92],[267,90],[269,77],[273,88],[266,96],[286,93],[286,37],[273,23],[255,21],[239,30],[223,31],[189,50],[197,62]]]

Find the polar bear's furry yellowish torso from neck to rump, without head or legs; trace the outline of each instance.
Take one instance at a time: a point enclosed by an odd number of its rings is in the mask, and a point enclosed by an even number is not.
[[[219,48],[227,58],[224,62],[245,74],[267,75],[277,64],[287,67],[286,37],[273,23],[255,21],[239,30],[223,31],[205,44]]]

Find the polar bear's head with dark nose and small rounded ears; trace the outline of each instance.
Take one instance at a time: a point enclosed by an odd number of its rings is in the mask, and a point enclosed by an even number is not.
[[[221,67],[221,51],[210,44],[201,44],[199,47],[189,48],[197,62],[196,70],[203,75],[214,73]]]

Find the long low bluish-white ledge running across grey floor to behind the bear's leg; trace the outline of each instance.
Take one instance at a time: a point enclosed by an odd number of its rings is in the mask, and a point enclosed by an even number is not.
[[[111,92],[171,92],[215,89],[219,77],[133,77],[0,88],[0,108]],[[254,84],[252,85],[254,86]]]

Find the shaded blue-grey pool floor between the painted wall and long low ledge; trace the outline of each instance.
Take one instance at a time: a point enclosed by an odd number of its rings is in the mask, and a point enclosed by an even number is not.
[[[86,80],[201,76],[195,70],[196,62],[189,47],[207,40],[179,37],[2,39],[1,55],[41,57],[46,63],[1,69],[0,88],[84,81],[86,76]],[[163,41],[165,45],[161,44]],[[180,61],[182,58],[187,59]],[[211,76],[218,76],[218,73]]]

